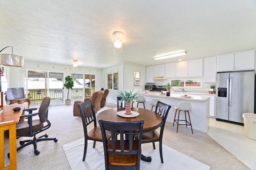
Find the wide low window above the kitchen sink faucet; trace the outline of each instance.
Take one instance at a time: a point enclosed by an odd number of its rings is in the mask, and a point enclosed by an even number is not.
[[[202,88],[202,79],[171,80],[173,87]]]

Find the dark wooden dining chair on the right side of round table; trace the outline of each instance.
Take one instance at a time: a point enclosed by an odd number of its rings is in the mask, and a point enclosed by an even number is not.
[[[151,143],[152,142],[154,149],[156,149],[155,142],[159,142],[159,152],[160,152],[160,158],[161,158],[162,163],[164,163],[163,152],[162,152],[162,140],[163,140],[163,133],[164,133],[164,125],[165,125],[166,118],[167,118],[170,108],[171,108],[171,106],[158,101],[156,104],[155,112],[158,113],[159,115],[161,115],[161,117],[162,117],[162,122],[160,124],[160,134],[156,130],[154,130],[154,131],[150,131],[148,133],[143,133],[143,135],[142,135],[142,143]],[[137,135],[134,135],[134,137],[135,137],[135,139],[138,139]]]

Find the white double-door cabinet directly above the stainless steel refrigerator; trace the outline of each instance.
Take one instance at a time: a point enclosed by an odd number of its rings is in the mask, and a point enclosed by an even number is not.
[[[234,70],[254,70],[255,51],[241,51],[237,53],[217,56],[217,72]]]

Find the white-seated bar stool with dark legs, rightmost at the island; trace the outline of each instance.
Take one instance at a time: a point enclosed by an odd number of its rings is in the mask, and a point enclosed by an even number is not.
[[[192,106],[191,106],[190,102],[180,102],[178,104],[178,106],[174,107],[174,108],[176,109],[176,112],[175,112],[174,121],[173,121],[173,125],[172,126],[174,126],[174,122],[177,123],[177,133],[178,133],[178,126],[179,125],[186,125],[186,127],[191,126],[191,131],[192,131],[192,134],[193,134],[193,129],[192,129],[192,125],[191,125],[191,121],[190,121],[190,116],[189,116],[189,112],[188,112],[189,110],[192,109]],[[178,119],[175,119],[176,118],[177,110],[179,111]],[[185,120],[179,120],[180,119],[180,111],[184,111],[185,112]],[[188,112],[189,122],[187,121],[186,112]],[[185,121],[186,124],[179,124],[179,121]]]

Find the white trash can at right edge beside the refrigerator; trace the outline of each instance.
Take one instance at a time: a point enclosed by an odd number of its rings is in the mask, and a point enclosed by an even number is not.
[[[244,113],[244,132],[249,139],[256,140],[256,114]]]

